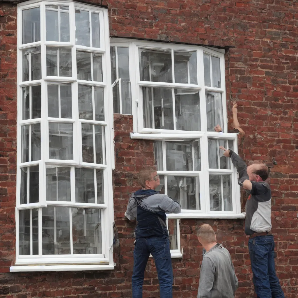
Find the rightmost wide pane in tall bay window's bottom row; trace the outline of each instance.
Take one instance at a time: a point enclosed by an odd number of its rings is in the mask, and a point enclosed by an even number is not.
[[[101,210],[72,208],[73,254],[102,254]]]

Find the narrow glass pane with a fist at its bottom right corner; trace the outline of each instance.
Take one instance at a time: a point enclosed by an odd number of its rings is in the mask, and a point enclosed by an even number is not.
[[[216,125],[224,130],[221,93],[206,91],[207,130],[214,131]]]

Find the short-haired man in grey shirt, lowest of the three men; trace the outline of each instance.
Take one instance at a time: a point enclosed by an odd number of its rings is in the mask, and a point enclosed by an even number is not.
[[[209,224],[197,231],[198,240],[206,251],[203,256],[197,298],[232,298],[238,288],[231,256],[216,242],[215,232]]]

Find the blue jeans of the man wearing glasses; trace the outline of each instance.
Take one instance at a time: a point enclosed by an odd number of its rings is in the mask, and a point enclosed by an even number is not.
[[[167,236],[138,238],[134,247],[134,271],[132,274],[132,298],[142,298],[145,268],[152,254],[159,280],[160,297],[173,298],[173,269],[170,241]]]

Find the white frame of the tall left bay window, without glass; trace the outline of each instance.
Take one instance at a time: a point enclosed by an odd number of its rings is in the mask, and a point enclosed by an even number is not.
[[[70,41],[55,42],[46,41],[45,34],[45,5],[67,5],[69,6],[69,21],[70,21]],[[22,10],[40,7],[41,10],[41,41],[30,44],[22,44]],[[77,46],[75,44],[75,8],[94,11],[100,15],[100,39],[101,48],[90,48],[85,46]],[[92,40],[92,38],[91,38]],[[73,270],[111,270],[114,269],[113,260],[113,227],[114,222],[114,206],[113,206],[113,187],[112,187],[112,168],[114,168],[114,128],[113,128],[113,104],[110,98],[111,94],[111,68],[110,68],[110,43],[109,43],[109,27],[108,27],[108,11],[106,8],[94,5],[82,4],[70,0],[32,0],[18,4],[18,125],[17,125],[17,192],[16,192],[16,256],[15,264],[10,267],[11,272],[17,271],[73,271]],[[41,80],[22,81],[22,50],[32,46],[41,46]],[[72,49],[72,77],[49,77],[46,76],[46,46],[68,46]],[[89,82],[77,80],[76,76],[76,50],[85,50],[102,54],[103,63],[103,82]],[[31,71],[31,70],[30,70]],[[93,71],[93,70],[92,70]],[[47,117],[47,83],[72,83],[72,119],[49,118]],[[79,119],[78,116],[78,92],[77,85],[82,83],[89,86],[98,86],[104,88],[104,110],[105,121],[91,121]],[[22,120],[22,87],[41,84],[41,118]],[[94,108],[94,105],[93,105]],[[48,123],[73,123],[73,161],[64,161],[49,159],[49,127]],[[27,162],[21,164],[21,126],[24,124],[41,123],[41,160],[37,162]],[[90,164],[82,162],[81,148],[81,124],[92,123],[100,124],[105,127],[105,164]],[[94,149],[95,156],[95,149]],[[20,204],[20,183],[21,183],[21,166],[39,164],[39,203]],[[93,169],[102,169],[104,176],[104,204],[87,204],[76,203],[74,198],[74,172],[72,168],[72,201],[46,201],[46,165],[67,165],[70,167],[88,167]],[[96,187],[95,187],[96,191]],[[102,229],[102,254],[85,254],[80,255],[43,255],[42,254],[42,208],[47,206],[64,206],[64,207],[81,207],[81,208],[96,208],[101,210],[101,229]],[[19,218],[18,211],[22,209],[38,209],[38,255],[19,255]],[[32,228],[31,228],[32,230]],[[72,235],[72,226],[70,219],[70,237]],[[72,237],[70,238],[72,242]],[[31,240],[32,242],[32,232]]]

